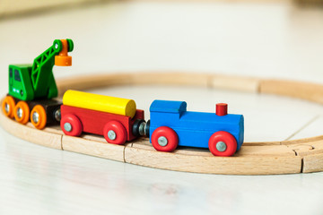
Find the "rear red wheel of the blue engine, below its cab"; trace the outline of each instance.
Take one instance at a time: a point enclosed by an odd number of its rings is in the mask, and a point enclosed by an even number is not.
[[[179,145],[179,137],[170,127],[162,126],[153,131],[152,144],[155,150],[170,152]]]

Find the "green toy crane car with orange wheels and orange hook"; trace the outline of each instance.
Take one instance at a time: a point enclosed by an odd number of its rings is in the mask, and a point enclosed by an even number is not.
[[[21,124],[38,129],[60,121],[61,102],[57,97],[57,84],[53,66],[72,65],[72,39],[55,39],[51,47],[37,56],[33,64],[9,65],[9,93],[2,103],[4,114]]]

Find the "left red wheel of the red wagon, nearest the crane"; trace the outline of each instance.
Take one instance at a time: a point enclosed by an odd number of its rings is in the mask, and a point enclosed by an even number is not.
[[[60,125],[62,131],[69,136],[79,136],[83,131],[83,126],[80,119],[73,114],[63,116]]]

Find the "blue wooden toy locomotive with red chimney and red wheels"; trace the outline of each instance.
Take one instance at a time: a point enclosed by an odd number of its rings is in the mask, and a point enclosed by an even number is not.
[[[156,150],[177,146],[208,148],[215,156],[231,156],[243,143],[242,115],[227,114],[227,104],[215,113],[189,112],[185,101],[154,100],[150,107],[150,142]]]

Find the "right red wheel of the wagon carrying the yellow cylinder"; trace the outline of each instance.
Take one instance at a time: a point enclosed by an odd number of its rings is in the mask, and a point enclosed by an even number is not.
[[[127,131],[118,121],[110,121],[103,128],[103,136],[107,142],[122,145],[127,141]]]

